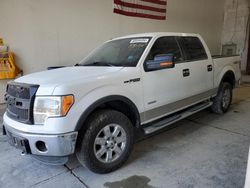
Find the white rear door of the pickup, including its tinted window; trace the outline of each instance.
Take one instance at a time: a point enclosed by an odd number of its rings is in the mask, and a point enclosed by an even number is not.
[[[213,64],[211,57],[198,37],[177,37],[182,48],[189,76],[185,83],[189,86],[188,95],[198,99],[211,95],[213,89]]]

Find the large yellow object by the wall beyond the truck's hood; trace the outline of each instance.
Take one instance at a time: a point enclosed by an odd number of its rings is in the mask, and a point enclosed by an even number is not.
[[[22,71],[15,65],[12,52],[0,53],[0,80],[16,78]]]

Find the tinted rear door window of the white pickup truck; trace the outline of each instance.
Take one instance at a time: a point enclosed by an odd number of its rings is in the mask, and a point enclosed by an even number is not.
[[[203,60],[207,59],[207,53],[201,43],[200,39],[197,37],[180,37],[180,44],[184,50],[186,60]]]

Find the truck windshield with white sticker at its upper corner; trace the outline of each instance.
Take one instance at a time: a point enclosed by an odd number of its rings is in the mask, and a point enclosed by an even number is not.
[[[126,38],[104,43],[78,66],[135,67],[151,38]]]

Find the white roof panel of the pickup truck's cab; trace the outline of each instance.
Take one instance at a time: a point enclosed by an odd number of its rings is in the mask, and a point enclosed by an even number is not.
[[[134,37],[160,37],[160,36],[195,36],[199,37],[199,34],[194,33],[177,33],[177,32],[154,32],[154,33],[139,33],[133,35],[127,35],[123,37],[114,38],[113,40],[123,39],[123,38],[134,38]]]

